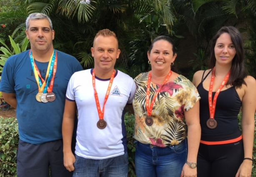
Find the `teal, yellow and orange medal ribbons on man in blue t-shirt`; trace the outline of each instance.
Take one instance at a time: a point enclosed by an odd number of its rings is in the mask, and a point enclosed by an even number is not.
[[[53,90],[53,82],[54,82],[54,76],[55,76],[55,73],[56,73],[56,70],[57,70],[57,57],[55,58],[55,55],[56,52],[54,50],[53,52],[53,55],[50,57],[50,61],[49,61],[49,64],[48,64],[48,68],[47,68],[47,71],[46,71],[46,75],[45,75],[45,80],[41,77],[41,74],[40,74],[40,71],[38,70],[38,67],[37,65],[35,64],[35,60],[34,60],[34,57],[32,55],[32,52],[30,50],[30,62],[31,62],[31,65],[32,65],[32,69],[33,69],[33,72],[34,72],[34,75],[35,75],[35,80],[38,84],[38,92],[43,92],[43,93],[47,93],[47,91],[51,92]],[[53,72],[54,70],[54,72]],[[52,72],[53,72],[53,78],[52,78],[52,81],[51,81],[51,87],[49,88],[47,85],[48,85],[48,82],[49,82],[49,79],[50,79],[50,76],[52,75]],[[39,79],[40,77],[40,79]],[[46,82],[47,80],[47,82]],[[45,87],[47,86],[47,87]]]

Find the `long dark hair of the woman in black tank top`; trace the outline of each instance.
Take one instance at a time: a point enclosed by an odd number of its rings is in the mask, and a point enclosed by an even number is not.
[[[228,33],[231,37],[232,43],[236,49],[236,55],[232,60],[231,72],[230,77],[228,79],[227,85],[231,84],[235,87],[241,87],[243,84],[246,85],[246,82],[243,80],[248,73],[246,72],[244,66],[244,51],[243,51],[243,42],[241,33],[233,26],[224,26],[221,27],[220,30],[216,33],[213,37],[212,45],[211,45],[211,54],[210,54],[210,68],[213,68],[216,64],[215,52],[214,47],[216,45],[217,39],[223,33]]]

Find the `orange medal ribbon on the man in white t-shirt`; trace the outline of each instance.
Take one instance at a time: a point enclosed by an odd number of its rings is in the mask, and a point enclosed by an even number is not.
[[[94,89],[94,97],[95,97],[95,102],[96,102],[96,106],[97,106],[97,110],[98,110],[98,115],[100,117],[100,120],[103,120],[103,117],[104,117],[104,109],[105,109],[105,104],[108,100],[108,95],[110,93],[110,89],[111,89],[111,86],[112,86],[112,83],[113,83],[113,80],[114,80],[114,77],[115,77],[115,70],[113,70],[113,73],[110,77],[110,81],[109,81],[109,84],[108,84],[108,90],[106,92],[106,95],[105,95],[105,100],[104,100],[104,105],[103,105],[103,109],[102,111],[100,110],[100,101],[99,101],[99,97],[98,97],[98,93],[96,91],[96,88],[95,88],[95,71],[93,69],[93,89]]]

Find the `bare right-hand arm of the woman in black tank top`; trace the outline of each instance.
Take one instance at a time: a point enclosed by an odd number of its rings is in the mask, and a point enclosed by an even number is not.
[[[247,86],[243,85],[244,95],[242,98],[242,132],[244,157],[252,159],[254,141],[254,115],[256,109],[256,81],[253,77],[245,78]],[[236,177],[251,176],[252,161],[243,160]]]

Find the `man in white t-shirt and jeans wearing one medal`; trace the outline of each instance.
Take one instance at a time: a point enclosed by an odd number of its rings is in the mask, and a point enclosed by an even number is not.
[[[68,83],[63,115],[64,165],[75,177],[127,177],[128,153],[124,110],[131,105],[136,85],[115,70],[118,39],[100,30],[91,48],[94,68],[75,72]],[[75,156],[71,151],[76,110]]]

